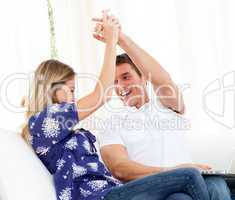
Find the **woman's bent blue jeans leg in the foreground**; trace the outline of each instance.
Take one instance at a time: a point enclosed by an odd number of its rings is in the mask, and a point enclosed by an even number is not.
[[[200,172],[182,168],[147,176],[115,187],[105,200],[209,200]]]

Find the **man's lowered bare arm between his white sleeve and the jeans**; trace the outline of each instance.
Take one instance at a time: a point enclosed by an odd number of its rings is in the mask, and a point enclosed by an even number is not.
[[[145,166],[131,161],[123,145],[103,146],[100,150],[105,165],[111,173],[124,182],[161,172],[163,168]]]

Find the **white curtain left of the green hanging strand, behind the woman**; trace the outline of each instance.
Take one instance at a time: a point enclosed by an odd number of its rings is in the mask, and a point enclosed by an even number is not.
[[[23,123],[20,103],[28,77],[50,57],[46,1],[0,1],[0,127],[16,130]]]

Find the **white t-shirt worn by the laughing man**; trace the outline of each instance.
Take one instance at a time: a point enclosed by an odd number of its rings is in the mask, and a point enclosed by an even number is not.
[[[140,109],[126,107],[125,112],[112,114],[106,125],[98,136],[100,148],[121,144],[131,160],[147,166],[192,162],[185,138],[189,120],[163,107],[157,97]]]

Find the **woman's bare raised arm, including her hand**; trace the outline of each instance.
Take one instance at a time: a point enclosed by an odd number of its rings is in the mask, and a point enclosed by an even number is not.
[[[107,11],[103,11],[102,34],[106,44],[102,71],[93,92],[77,101],[79,120],[88,117],[105,103],[104,95],[114,82],[119,27],[116,20],[107,15]]]

